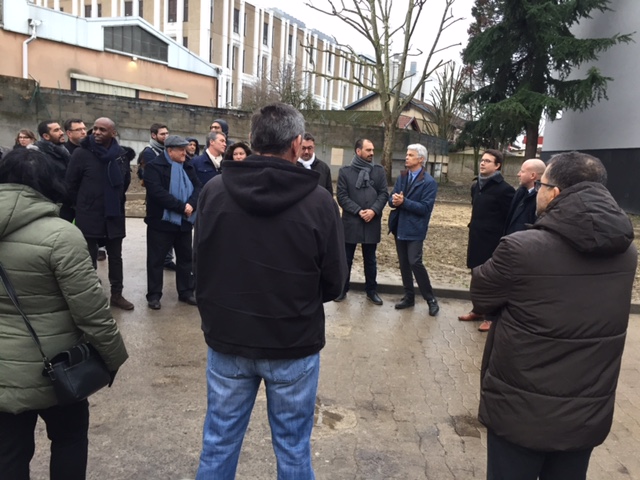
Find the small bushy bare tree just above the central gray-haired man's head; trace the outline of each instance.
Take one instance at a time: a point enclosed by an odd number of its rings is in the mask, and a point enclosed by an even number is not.
[[[298,110],[319,108],[311,92],[296,77],[293,65],[283,63],[262,75],[242,90],[242,110],[253,111],[273,102],[287,103]]]

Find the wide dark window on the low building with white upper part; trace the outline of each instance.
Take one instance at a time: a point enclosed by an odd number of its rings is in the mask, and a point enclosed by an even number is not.
[[[135,25],[104,27],[104,48],[162,62],[168,59],[167,44]]]

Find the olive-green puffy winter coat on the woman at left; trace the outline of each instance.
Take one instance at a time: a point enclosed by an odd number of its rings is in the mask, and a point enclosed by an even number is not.
[[[58,207],[24,185],[0,185],[0,263],[49,358],[83,335],[109,370],[127,359],[82,233]],[[56,405],[27,327],[0,285],[0,412]]]

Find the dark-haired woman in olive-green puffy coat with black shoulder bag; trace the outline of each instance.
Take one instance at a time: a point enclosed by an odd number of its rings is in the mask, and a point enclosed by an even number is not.
[[[87,243],[58,215],[66,197],[56,165],[19,148],[0,160],[0,264],[22,310],[52,358],[83,339],[102,356],[112,378],[127,351],[91,264]],[[86,477],[89,403],[60,406],[40,352],[20,313],[0,288],[0,472],[29,479],[38,417],[51,440],[52,479]]]

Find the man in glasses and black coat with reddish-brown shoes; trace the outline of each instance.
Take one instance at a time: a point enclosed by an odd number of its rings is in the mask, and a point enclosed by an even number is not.
[[[515,194],[500,169],[503,163],[502,152],[485,150],[480,160],[480,175],[471,186],[471,221],[469,222],[469,243],[467,244],[467,267],[482,265],[498,246],[504,232],[504,225]],[[460,315],[458,320],[484,320],[478,330],[486,332],[491,319],[471,311]]]

